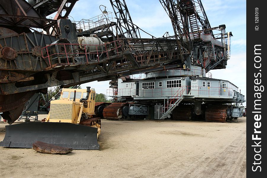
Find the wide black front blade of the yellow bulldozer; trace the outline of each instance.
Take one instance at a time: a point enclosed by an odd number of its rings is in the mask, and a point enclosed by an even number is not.
[[[1,147],[32,148],[36,141],[74,150],[99,150],[97,128],[72,123],[28,122],[6,125]]]

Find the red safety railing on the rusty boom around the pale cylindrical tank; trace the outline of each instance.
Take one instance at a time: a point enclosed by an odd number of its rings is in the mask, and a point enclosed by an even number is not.
[[[106,54],[106,58],[109,59],[108,52],[114,52],[119,54],[118,48],[121,47],[119,40],[108,42],[100,45],[86,45],[86,44],[68,44],[68,43],[59,43],[51,44],[42,48],[42,58],[48,60],[49,66],[52,66],[52,59],[54,58],[65,58],[66,63],[73,63],[70,61],[70,58],[73,56],[84,55],[86,57],[86,62],[89,61],[98,61],[99,58]],[[92,57],[92,55],[95,55]]]

